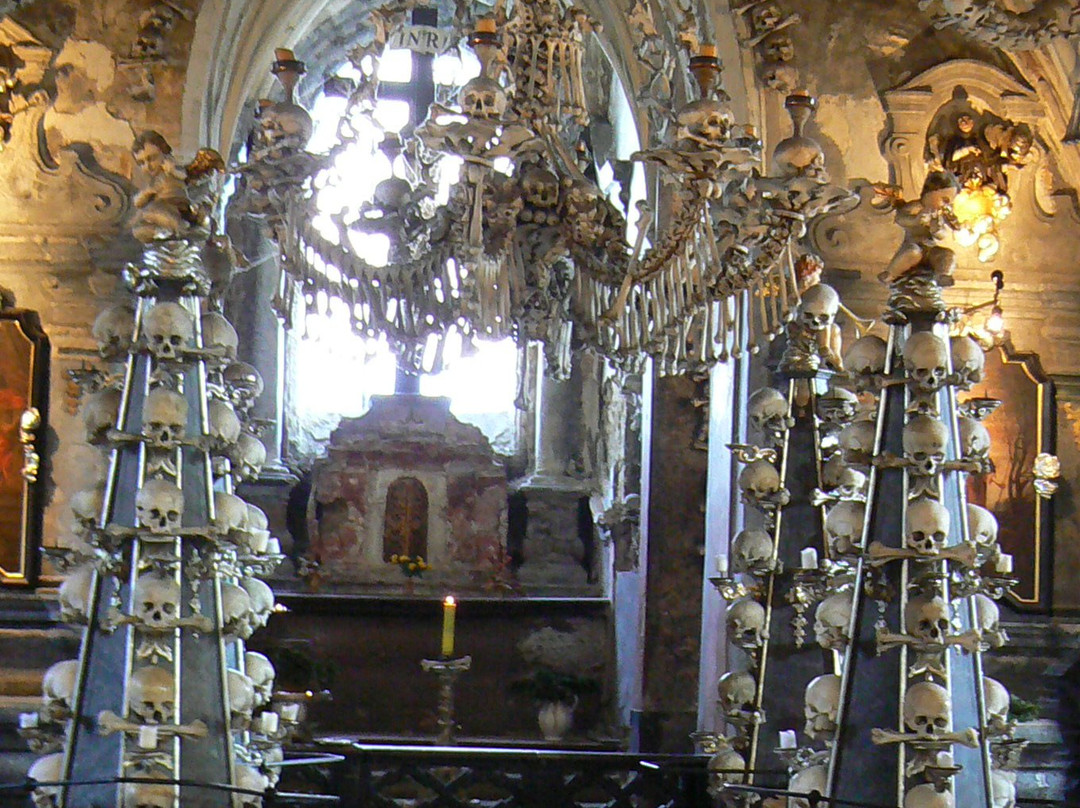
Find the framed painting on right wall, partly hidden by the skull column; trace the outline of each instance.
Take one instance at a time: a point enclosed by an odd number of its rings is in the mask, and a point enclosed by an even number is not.
[[[1055,452],[1054,387],[1035,353],[1017,353],[1008,340],[986,354],[983,382],[966,398],[1001,405],[984,420],[994,471],[968,477],[968,500],[998,519],[1001,552],[1013,556],[1018,583],[1008,603],[1023,611],[1049,611],[1053,569],[1051,500],[1035,490],[1035,458]]]

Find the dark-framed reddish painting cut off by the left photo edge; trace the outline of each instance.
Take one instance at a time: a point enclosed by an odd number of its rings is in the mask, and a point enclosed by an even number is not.
[[[36,582],[48,403],[49,339],[37,312],[0,309],[0,584]]]

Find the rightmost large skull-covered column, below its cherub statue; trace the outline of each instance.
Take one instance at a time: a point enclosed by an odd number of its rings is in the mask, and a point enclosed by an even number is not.
[[[924,208],[947,185],[931,174]],[[989,808],[1013,790],[993,767],[1009,731],[1000,706],[990,710],[1000,685],[982,672],[982,652],[1004,639],[988,595],[1008,581],[993,571],[996,546],[976,535],[981,514],[964,498],[967,475],[988,471],[989,439],[957,405],[957,388],[974,379],[954,369],[942,250],[889,279],[888,341],[852,368],[880,394],[874,428],[845,444],[870,476],[850,555],[839,726],[827,768],[792,786],[854,804]]]

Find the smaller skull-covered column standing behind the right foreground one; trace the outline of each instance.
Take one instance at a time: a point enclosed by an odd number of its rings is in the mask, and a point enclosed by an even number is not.
[[[832,561],[825,513],[826,506],[861,508],[865,484],[865,475],[847,467],[837,447],[838,432],[855,417],[859,404],[854,393],[836,383],[842,380],[838,310],[832,287],[802,289],[786,328],[781,383],[755,391],[747,404],[752,431],[766,448],[732,446],[746,463],[739,480],[743,500],[764,513],[765,523],[748,526],[732,541],[731,570],[742,580],[714,579],[726,596],[741,598],[729,610],[728,635],[748,662],[747,670],[727,673],[718,683],[720,710],[735,730],[728,744],[743,755],[747,769],[728,782],[786,787],[781,772],[823,758],[810,743],[829,741],[836,728],[836,651],[842,650],[842,636],[822,621],[821,611],[814,615],[819,602],[825,612],[835,609],[826,598]],[[747,627],[747,616],[761,617],[765,631]],[[791,740],[784,749],[782,732]],[[738,796],[725,793],[728,800]]]

